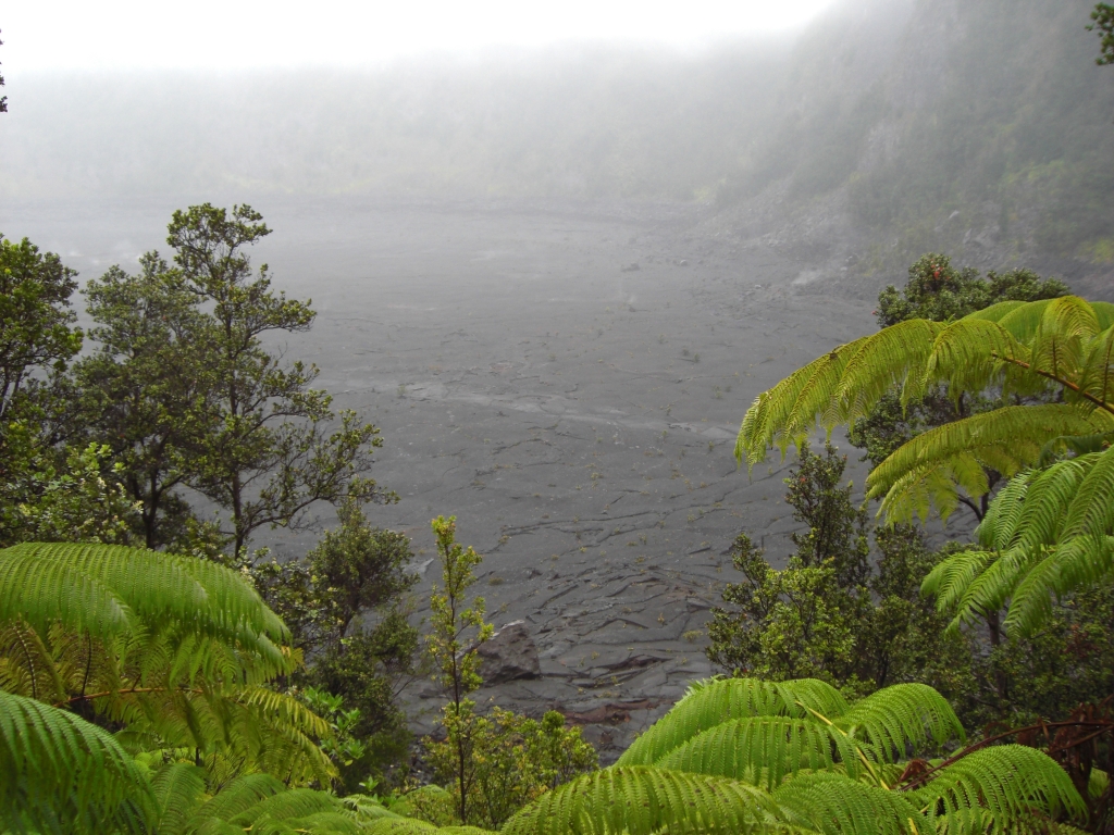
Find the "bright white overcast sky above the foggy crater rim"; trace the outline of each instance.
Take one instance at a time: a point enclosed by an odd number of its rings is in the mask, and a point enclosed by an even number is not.
[[[51,69],[379,65],[569,40],[682,48],[794,28],[832,0],[0,0],[9,80]]]

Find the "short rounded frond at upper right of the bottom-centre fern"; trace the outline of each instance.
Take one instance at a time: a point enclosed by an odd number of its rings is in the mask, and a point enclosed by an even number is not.
[[[928,685],[892,685],[854,703],[832,720],[848,736],[861,741],[876,762],[895,763],[909,749],[942,747],[967,738],[948,700]]]

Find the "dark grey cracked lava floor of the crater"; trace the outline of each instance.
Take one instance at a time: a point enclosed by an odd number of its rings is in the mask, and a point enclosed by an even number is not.
[[[319,312],[289,355],[382,428],[373,475],[401,501],[370,514],[413,537],[419,593],[438,579],[429,520],[456,515],[490,619],[537,647],[540,677],[481,696],[575,715],[614,757],[713,672],[703,628],[739,530],[790,550],[785,466],[747,478],[732,456],[743,412],[873,330],[870,304],[688,207],[256,207],[275,230],[256,261]],[[173,208],[9,206],[0,230],[89,278],[165,249]],[[424,727],[438,694],[409,692]]]

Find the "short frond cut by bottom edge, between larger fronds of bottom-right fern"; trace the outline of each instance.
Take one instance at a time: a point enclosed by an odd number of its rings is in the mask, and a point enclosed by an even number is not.
[[[911,835],[924,816],[895,792],[838,774],[802,775],[774,792],[793,823],[831,835]]]

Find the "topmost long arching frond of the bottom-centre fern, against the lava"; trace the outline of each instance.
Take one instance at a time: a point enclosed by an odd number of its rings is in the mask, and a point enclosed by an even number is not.
[[[703,730],[730,719],[754,716],[804,718],[805,708],[841,716],[847,700],[831,685],[817,679],[761,681],[727,678],[690,690],[673,708],[632,743],[616,765],[654,765]]]

